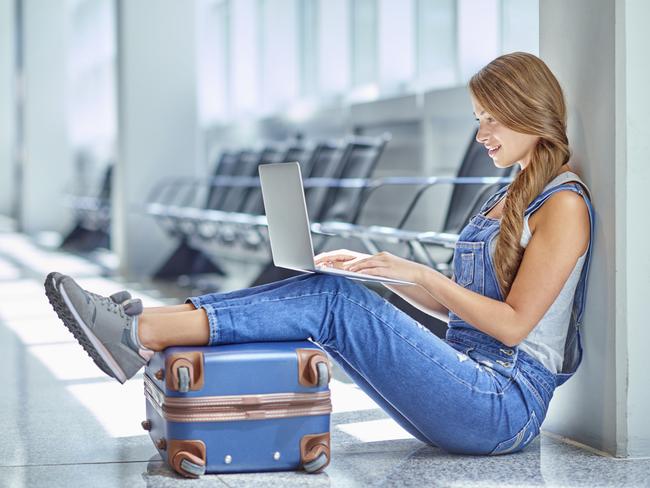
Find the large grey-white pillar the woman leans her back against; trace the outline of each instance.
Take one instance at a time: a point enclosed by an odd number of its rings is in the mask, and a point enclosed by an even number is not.
[[[540,55],[565,90],[573,162],[597,214],[585,356],[544,428],[620,457],[650,455],[648,20],[644,0],[540,2]]]

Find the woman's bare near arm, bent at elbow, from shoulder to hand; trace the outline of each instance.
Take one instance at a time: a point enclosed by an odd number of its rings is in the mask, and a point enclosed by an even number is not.
[[[357,261],[349,269],[415,281],[461,319],[513,347],[544,316],[589,244],[589,213],[582,197],[575,193],[556,193],[533,217],[529,222],[533,236],[505,302],[467,290],[431,268],[387,253]]]

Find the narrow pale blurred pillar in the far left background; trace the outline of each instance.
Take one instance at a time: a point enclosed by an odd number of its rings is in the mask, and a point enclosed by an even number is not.
[[[22,0],[24,29],[24,162],[22,230],[65,232],[71,212],[63,194],[72,183],[66,134],[65,3]]]

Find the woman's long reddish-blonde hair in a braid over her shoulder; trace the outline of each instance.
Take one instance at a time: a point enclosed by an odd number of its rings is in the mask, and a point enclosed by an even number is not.
[[[562,88],[537,56],[516,52],[490,62],[469,82],[476,101],[515,132],[539,136],[530,162],[508,188],[494,264],[507,297],[524,253],[524,212],[570,157]]]

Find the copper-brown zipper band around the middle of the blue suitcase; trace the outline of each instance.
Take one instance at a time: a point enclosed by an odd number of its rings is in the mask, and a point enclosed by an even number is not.
[[[161,417],[171,422],[227,422],[283,417],[328,415],[330,392],[269,393],[178,398],[166,397],[148,376],[144,377],[147,400]]]

